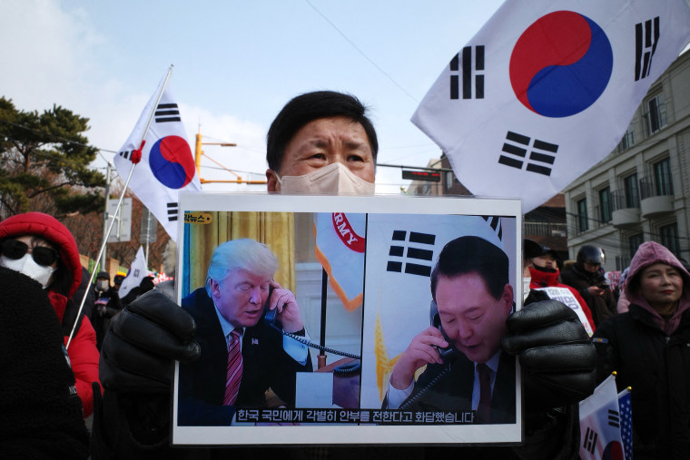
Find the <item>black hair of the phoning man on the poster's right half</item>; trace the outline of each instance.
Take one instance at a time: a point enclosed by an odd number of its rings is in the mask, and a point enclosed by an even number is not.
[[[453,278],[477,273],[484,279],[491,297],[498,300],[508,284],[508,266],[506,253],[483,238],[468,236],[452,240],[443,247],[431,271],[431,297],[436,301],[439,275]]]

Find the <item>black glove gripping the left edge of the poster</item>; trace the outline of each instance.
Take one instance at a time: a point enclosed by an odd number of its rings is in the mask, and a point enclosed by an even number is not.
[[[194,319],[162,293],[151,290],[123,308],[110,323],[101,350],[105,388],[121,392],[168,393],[174,361],[201,355]]]

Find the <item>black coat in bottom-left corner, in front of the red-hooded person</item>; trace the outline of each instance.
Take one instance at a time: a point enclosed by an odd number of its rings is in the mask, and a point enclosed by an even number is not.
[[[89,435],[41,285],[0,267],[0,457],[81,459]]]

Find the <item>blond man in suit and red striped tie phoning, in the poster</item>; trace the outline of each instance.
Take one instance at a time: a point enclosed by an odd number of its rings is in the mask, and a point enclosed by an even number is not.
[[[266,245],[227,241],[213,251],[206,286],[182,299],[201,357],[180,365],[181,426],[229,426],[237,407],[265,406],[268,388],[294,406],[295,373],[311,372],[311,359],[281,333],[306,335],[294,294],[273,280],[277,269]],[[276,327],[261,319],[267,310],[277,311]]]

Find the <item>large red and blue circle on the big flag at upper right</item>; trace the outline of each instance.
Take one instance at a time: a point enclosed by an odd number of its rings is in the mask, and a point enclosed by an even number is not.
[[[584,111],[604,93],[614,54],[601,27],[556,11],[520,35],[510,55],[510,83],[527,109],[552,118]]]

